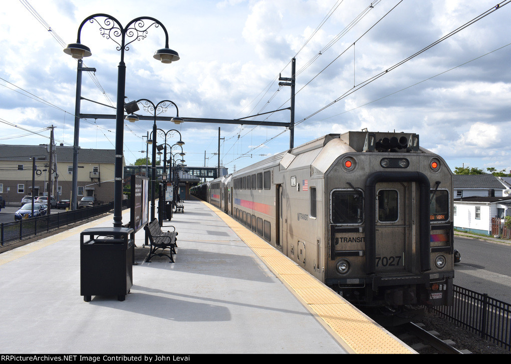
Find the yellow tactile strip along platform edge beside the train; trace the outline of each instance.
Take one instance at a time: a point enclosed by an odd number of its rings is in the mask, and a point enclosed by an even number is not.
[[[213,205],[213,210],[257,254],[346,350],[354,354],[415,353],[332,289]]]

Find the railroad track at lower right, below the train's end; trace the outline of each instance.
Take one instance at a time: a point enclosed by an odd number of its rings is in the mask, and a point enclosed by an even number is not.
[[[410,322],[389,331],[420,354],[472,354],[469,350],[454,348],[455,342],[441,339],[436,331],[427,331],[423,327]]]

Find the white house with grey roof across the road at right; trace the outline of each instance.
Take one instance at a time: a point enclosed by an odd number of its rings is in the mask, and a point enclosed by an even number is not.
[[[511,216],[511,184],[492,174],[453,176],[454,227],[491,235],[492,218]]]

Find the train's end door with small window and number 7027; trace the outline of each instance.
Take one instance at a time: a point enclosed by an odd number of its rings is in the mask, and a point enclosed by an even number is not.
[[[376,273],[402,271],[409,264],[413,183],[376,184]]]

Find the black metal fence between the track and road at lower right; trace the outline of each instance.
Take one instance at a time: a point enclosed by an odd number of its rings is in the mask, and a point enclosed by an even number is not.
[[[431,310],[464,329],[511,351],[511,305],[454,285],[452,306]]]

